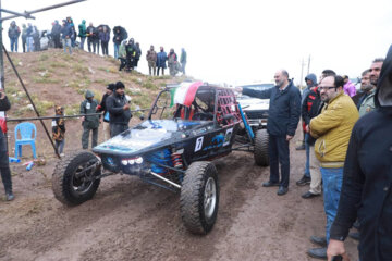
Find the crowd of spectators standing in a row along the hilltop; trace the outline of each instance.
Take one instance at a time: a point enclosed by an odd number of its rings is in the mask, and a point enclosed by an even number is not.
[[[142,57],[140,44],[132,37],[127,40],[128,34],[124,27],[114,26],[111,29],[105,24],[94,26],[91,22],[87,26],[86,21],[82,20],[77,28],[78,30],[76,30],[75,24],[70,16],[62,20],[61,24],[56,20],[50,32],[40,32],[37,26],[33,26],[30,23],[27,26],[22,24],[21,30],[15,21],[12,21],[8,32],[11,51],[17,52],[19,38],[22,35],[23,52],[40,51],[50,46],[63,48],[64,53],[69,52],[72,54],[74,48],[77,47],[81,50],[85,50],[87,45],[86,49],[88,52],[96,54],[101,52],[102,55],[109,55],[109,41],[113,32],[113,55],[114,59],[120,60],[119,71],[131,72],[137,69]],[[77,41],[77,38],[79,38],[79,41]],[[45,47],[41,47],[42,41]],[[157,53],[154,46],[151,46],[146,54],[149,75],[159,76],[159,72],[161,72],[161,75],[164,75],[164,69],[167,67],[169,67],[171,76],[175,76],[177,73],[185,74],[186,57],[184,48],[181,50],[181,58],[179,60],[173,48],[167,54],[163,47],[160,47],[160,51]]]

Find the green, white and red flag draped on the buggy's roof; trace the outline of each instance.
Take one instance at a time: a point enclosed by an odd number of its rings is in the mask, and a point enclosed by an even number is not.
[[[170,107],[173,107],[175,103],[189,107],[195,99],[198,87],[201,85],[201,82],[181,83],[179,87],[171,89]]]

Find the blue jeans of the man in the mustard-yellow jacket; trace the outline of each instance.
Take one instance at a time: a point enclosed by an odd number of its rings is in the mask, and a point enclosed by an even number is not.
[[[338,213],[339,198],[343,183],[343,167],[320,167],[323,188],[323,203],[327,215],[326,237],[330,238],[330,228]]]

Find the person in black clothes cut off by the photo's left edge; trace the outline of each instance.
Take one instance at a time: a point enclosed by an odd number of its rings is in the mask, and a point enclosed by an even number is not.
[[[11,108],[11,103],[8,100],[3,89],[0,89],[0,111],[8,111]],[[7,137],[3,129],[0,127],[0,172],[1,181],[4,185],[5,199],[8,201],[13,200],[15,197],[12,194],[12,179],[11,170],[9,163],[9,154],[7,150]]]

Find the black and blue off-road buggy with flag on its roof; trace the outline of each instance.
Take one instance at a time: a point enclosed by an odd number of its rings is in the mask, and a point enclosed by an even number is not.
[[[147,121],[95,147],[94,153],[84,150],[59,161],[53,192],[65,204],[81,204],[93,198],[102,177],[137,175],[180,192],[185,226],[206,234],[219,206],[218,173],[211,160],[245,150],[254,152],[257,164],[267,165],[262,132],[254,136],[232,89],[201,82],[167,86]]]

